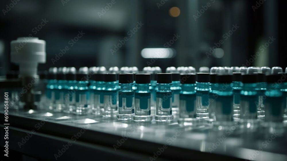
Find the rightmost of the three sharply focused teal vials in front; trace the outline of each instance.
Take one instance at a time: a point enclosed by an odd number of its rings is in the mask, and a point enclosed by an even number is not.
[[[172,85],[171,73],[158,73],[157,74],[157,86],[156,91],[156,121],[172,121],[172,91],[170,86]]]

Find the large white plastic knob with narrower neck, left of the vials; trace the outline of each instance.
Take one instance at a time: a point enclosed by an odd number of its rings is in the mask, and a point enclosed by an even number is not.
[[[19,37],[11,41],[11,62],[19,63],[21,77],[35,77],[38,63],[46,63],[46,41]]]

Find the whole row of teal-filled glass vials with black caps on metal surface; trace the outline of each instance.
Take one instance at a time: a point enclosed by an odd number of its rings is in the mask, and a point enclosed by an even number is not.
[[[286,74],[280,67],[50,68],[40,104],[49,110],[121,120],[206,120],[220,128],[286,121]]]

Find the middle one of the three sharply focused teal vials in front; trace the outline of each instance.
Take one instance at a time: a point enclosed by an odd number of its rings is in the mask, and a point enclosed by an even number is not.
[[[150,74],[136,74],[135,121],[151,121]]]

